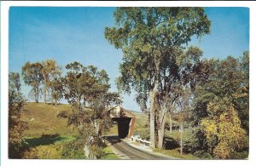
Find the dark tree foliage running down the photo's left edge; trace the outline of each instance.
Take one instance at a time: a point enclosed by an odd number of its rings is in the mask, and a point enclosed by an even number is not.
[[[20,75],[9,73],[9,157],[20,158],[20,146],[26,120],[22,116],[26,100],[20,92]]]

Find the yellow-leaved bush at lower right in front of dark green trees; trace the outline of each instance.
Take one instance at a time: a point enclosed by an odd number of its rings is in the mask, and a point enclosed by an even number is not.
[[[207,144],[218,158],[230,158],[232,152],[245,146],[246,132],[233,106],[226,100],[210,103],[207,109],[211,116],[201,120]]]

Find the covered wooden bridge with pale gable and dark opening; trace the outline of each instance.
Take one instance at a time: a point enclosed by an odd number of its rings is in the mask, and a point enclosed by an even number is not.
[[[120,106],[109,110],[110,117],[118,125],[119,138],[131,138],[134,130],[135,115]]]

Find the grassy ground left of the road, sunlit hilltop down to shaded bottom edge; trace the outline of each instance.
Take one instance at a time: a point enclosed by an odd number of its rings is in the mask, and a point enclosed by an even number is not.
[[[71,106],[61,104],[52,106],[44,103],[26,103],[23,117],[27,127],[23,133],[25,152],[23,158],[84,158],[83,150],[70,150],[68,145],[78,135],[72,127],[67,127],[67,118],[57,117],[61,111],[71,112]],[[71,144],[72,146],[72,144]],[[107,146],[103,159],[118,159]]]

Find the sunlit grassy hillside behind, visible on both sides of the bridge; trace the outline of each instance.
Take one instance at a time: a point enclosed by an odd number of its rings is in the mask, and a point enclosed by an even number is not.
[[[40,137],[42,135],[73,136],[76,131],[67,127],[67,119],[57,117],[61,111],[71,112],[71,106],[61,104],[52,106],[44,103],[27,103],[24,117],[28,123],[28,129],[24,131],[25,137]],[[136,115],[134,133],[138,134],[149,125],[148,116],[143,112],[132,112]],[[114,125],[108,135],[117,135],[117,125]]]

